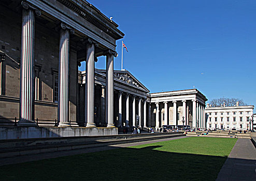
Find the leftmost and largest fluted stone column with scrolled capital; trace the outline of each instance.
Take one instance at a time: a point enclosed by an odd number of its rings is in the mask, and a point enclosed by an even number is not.
[[[40,10],[29,3],[21,3],[21,67],[20,67],[20,120],[19,126],[36,126],[34,96],[34,62],[35,62],[35,13]]]

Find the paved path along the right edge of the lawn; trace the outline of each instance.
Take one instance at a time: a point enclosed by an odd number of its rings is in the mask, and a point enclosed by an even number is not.
[[[250,139],[238,138],[216,181],[256,180],[256,149]]]

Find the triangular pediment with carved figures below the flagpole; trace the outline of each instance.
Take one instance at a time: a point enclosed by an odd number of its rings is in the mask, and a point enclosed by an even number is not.
[[[95,72],[106,74],[106,70],[102,69],[95,69]],[[149,89],[141,84],[128,70],[114,70],[113,78],[125,84],[144,89],[147,93],[149,92]]]

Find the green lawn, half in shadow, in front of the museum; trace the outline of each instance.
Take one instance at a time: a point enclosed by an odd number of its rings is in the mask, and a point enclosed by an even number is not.
[[[236,139],[189,137],[0,167],[0,180],[215,180]]]

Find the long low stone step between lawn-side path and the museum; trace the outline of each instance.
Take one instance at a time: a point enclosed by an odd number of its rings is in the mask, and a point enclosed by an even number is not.
[[[73,150],[81,148],[90,148],[106,145],[115,145],[123,143],[133,143],[140,141],[149,141],[173,137],[181,137],[182,133],[165,133],[165,134],[139,134],[137,137],[134,135],[125,134],[118,137],[66,137],[66,138],[51,138],[51,139],[20,139],[20,140],[5,140],[0,141],[0,158],[6,157],[16,157],[22,155],[58,152],[61,150]],[[111,138],[113,137],[113,138]],[[87,141],[85,141],[87,140]],[[20,144],[15,144],[15,142],[20,142]],[[12,146],[11,146],[12,145]],[[13,145],[16,145],[13,147]]]

